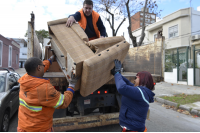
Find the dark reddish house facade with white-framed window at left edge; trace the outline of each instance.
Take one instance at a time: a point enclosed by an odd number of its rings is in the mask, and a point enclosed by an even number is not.
[[[0,68],[19,68],[20,45],[0,34]]]

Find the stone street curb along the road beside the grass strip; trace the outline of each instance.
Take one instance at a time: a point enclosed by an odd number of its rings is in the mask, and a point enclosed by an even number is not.
[[[157,101],[159,103],[166,104],[166,105],[169,105],[169,106],[174,106],[177,109],[187,110],[188,112],[190,112],[190,114],[200,117],[200,111],[199,110],[192,109],[190,107],[187,107],[186,105],[178,106],[177,103],[162,99],[160,97],[154,97],[154,101]]]

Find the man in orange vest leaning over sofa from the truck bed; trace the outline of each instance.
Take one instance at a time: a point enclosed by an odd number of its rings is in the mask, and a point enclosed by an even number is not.
[[[85,0],[83,8],[75,14],[70,15],[66,26],[70,27],[75,22],[78,22],[83,28],[89,40],[106,36],[106,29],[100,15],[93,11],[93,2],[91,0]]]

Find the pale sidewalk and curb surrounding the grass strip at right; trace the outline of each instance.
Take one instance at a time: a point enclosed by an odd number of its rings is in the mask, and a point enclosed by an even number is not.
[[[154,93],[155,93],[155,100],[157,102],[174,106],[177,107],[178,109],[189,111],[190,114],[197,115],[200,117],[200,101],[179,106],[177,103],[159,98],[161,96],[173,96],[182,93],[188,95],[200,94],[200,87],[160,82],[156,84]]]

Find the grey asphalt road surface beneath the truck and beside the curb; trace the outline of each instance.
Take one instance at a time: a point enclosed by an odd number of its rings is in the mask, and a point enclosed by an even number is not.
[[[9,132],[17,131],[17,112],[11,119]],[[150,120],[146,120],[148,132],[199,132],[200,118],[178,113],[172,109],[162,107],[160,103],[150,104]],[[121,132],[118,124],[95,127],[70,132]]]

